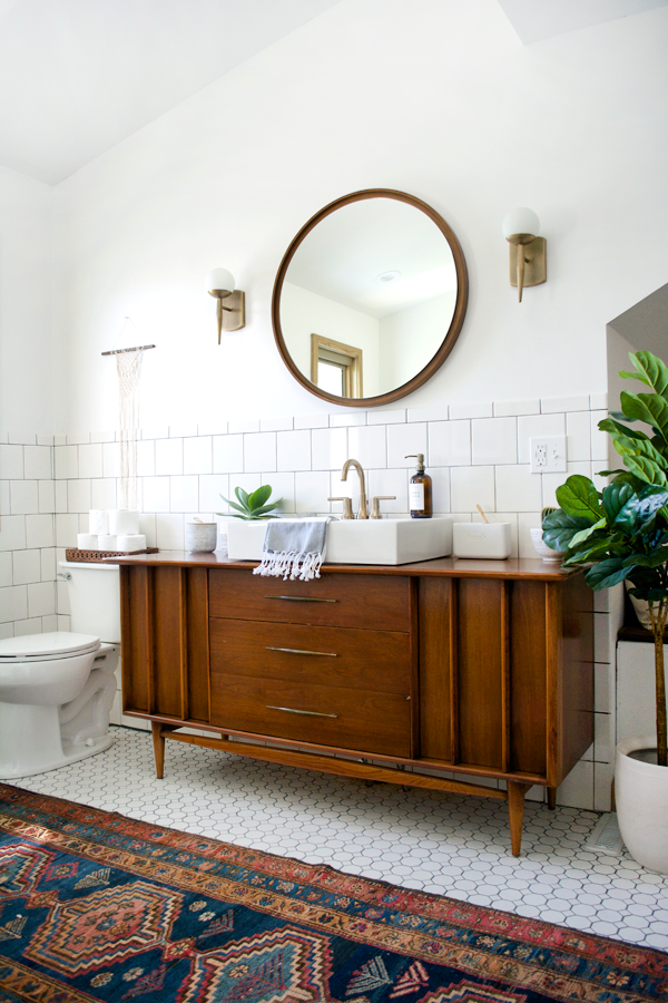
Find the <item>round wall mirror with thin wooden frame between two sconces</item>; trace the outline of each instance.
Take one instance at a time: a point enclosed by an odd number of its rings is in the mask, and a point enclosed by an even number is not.
[[[462,329],[462,249],[426,203],[389,188],[337,198],[296,235],[272,300],[283,361],[333,403],[374,407],[421,387]]]

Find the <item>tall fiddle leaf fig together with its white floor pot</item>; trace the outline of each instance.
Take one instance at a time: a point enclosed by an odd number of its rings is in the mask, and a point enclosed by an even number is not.
[[[655,644],[656,736],[617,747],[615,791],[619,828],[631,855],[668,874],[668,749],[664,630],[668,616],[668,367],[651,352],[630,354],[652,392],[621,393],[621,412],[599,422],[612,437],[623,468],[603,470],[612,481],[597,490],[581,475],[557,489],[560,508],[543,522],[543,541],[564,551],[563,565],[587,568],[595,591],[627,582],[647,603]],[[626,422],[642,421],[652,435]]]

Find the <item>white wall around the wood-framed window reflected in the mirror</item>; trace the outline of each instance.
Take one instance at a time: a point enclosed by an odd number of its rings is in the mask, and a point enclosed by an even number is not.
[[[362,349],[363,390],[379,390],[379,321],[375,317],[335,303],[292,282],[283,285],[281,327],[289,353],[306,379],[311,379],[311,335],[320,334]]]

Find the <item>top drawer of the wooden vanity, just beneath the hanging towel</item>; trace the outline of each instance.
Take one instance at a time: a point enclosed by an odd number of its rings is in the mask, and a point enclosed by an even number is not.
[[[209,615],[229,620],[312,623],[367,631],[409,631],[410,578],[323,574],[283,582],[227,568],[209,571]]]

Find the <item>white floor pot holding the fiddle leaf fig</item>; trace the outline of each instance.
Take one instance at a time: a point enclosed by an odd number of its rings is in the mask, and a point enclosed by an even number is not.
[[[632,756],[656,748],[656,736],[619,742],[615,800],[619,829],[630,855],[648,870],[668,874],[668,767]]]

